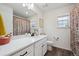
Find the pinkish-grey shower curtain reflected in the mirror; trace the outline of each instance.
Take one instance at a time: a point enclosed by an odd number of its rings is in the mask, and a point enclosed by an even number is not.
[[[14,16],[13,17],[13,35],[24,35],[30,32],[30,21]]]

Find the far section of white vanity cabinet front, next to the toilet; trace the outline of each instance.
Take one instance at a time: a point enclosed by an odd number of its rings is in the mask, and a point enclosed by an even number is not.
[[[35,43],[35,56],[44,56],[47,52],[47,38]]]

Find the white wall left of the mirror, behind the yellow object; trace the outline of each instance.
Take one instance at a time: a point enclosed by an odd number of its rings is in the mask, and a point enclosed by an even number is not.
[[[13,9],[0,4],[0,14],[3,17],[7,33],[13,33]]]

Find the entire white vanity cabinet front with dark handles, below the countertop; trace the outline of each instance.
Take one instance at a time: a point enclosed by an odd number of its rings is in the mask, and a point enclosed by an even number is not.
[[[47,37],[39,37],[35,40],[31,45],[22,48],[11,56],[44,56],[47,52]]]

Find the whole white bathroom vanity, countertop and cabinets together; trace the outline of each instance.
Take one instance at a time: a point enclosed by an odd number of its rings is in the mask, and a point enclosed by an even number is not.
[[[13,38],[9,44],[0,46],[2,56],[44,56],[46,52],[46,35]]]

